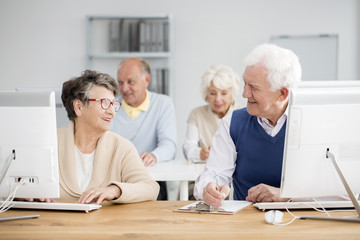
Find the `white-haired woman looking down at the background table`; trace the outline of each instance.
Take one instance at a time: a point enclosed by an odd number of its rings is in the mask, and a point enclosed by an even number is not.
[[[228,66],[213,65],[202,76],[201,94],[208,104],[192,110],[187,121],[183,152],[187,159],[207,160],[220,120],[239,105],[235,102],[240,78]]]

